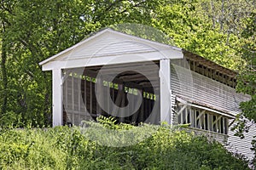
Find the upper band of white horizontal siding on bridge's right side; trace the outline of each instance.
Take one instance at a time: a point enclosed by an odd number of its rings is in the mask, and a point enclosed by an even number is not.
[[[248,95],[236,94],[234,88],[181,66],[172,65],[171,72],[172,93],[199,105],[205,105],[235,116],[240,112],[240,102],[250,99]]]

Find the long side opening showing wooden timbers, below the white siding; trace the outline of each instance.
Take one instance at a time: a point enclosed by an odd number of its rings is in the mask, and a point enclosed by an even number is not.
[[[189,124],[189,127],[228,134],[228,117],[185,105],[179,107],[177,113],[178,124]]]

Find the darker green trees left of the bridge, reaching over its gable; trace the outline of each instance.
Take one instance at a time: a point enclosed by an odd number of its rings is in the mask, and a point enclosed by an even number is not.
[[[154,7],[160,4],[156,0],[2,1],[1,20],[8,25],[1,60],[2,77],[7,80],[1,89],[3,116],[12,112],[16,114],[12,123],[51,124],[50,73],[41,71],[38,63],[102,27],[149,23]]]

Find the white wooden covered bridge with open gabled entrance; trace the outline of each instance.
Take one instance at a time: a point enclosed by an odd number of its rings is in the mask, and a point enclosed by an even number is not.
[[[96,116],[119,122],[190,124],[252,158],[250,141],[230,122],[248,95],[236,72],[181,48],[105,29],[40,63],[52,71],[53,126]]]

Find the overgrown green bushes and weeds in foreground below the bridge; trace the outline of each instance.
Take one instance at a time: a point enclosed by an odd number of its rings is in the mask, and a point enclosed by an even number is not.
[[[137,128],[109,119],[100,122],[89,124],[119,131]],[[247,161],[232,156],[222,144],[166,124],[142,126],[155,132],[125,147],[99,144],[80,127],[2,129],[0,169],[248,169]]]

